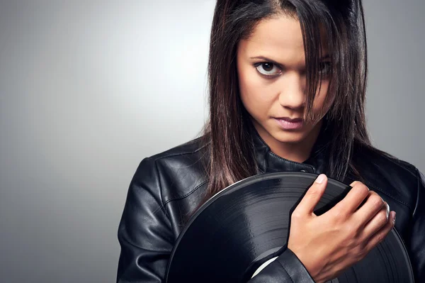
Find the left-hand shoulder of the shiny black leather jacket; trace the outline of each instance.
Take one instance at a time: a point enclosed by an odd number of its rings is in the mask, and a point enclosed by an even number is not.
[[[144,158],[132,184],[159,195],[163,204],[181,199],[205,184],[205,150],[200,138]],[[140,187],[140,186],[137,186]]]

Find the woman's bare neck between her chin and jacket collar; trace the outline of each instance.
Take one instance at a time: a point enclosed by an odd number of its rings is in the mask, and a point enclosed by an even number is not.
[[[273,138],[264,128],[254,123],[256,131],[259,133],[260,137],[268,145],[271,152],[274,154],[285,158],[286,160],[291,160],[294,162],[305,162],[305,160],[310,157],[314,143],[316,143],[317,138],[320,133],[320,128],[322,127],[322,121],[319,121],[312,131],[298,143],[283,143],[276,138]]]

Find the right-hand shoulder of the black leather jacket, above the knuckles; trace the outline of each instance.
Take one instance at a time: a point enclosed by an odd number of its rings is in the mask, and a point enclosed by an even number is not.
[[[421,182],[420,172],[414,165],[387,152],[365,147],[353,151],[353,162],[370,189],[414,209]]]

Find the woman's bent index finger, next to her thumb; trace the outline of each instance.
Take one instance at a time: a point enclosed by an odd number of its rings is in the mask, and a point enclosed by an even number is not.
[[[350,192],[339,201],[331,210],[334,211],[345,211],[346,213],[353,213],[358,209],[358,206],[363,202],[363,200],[368,196],[369,189],[365,184],[361,182],[353,182],[350,185],[353,187]]]

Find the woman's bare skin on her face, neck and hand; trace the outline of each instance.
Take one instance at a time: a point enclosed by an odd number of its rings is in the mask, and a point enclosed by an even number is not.
[[[312,109],[317,116],[330,107],[326,99],[329,57],[326,46],[322,49],[324,76]],[[251,36],[239,42],[237,71],[242,103],[271,151],[295,162],[307,160],[322,117],[296,130],[276,123],[278,117],[302,118],[305,112],[305,52],[299,21],[285,15],[260,21]],[[395,223],[395,212],[390,213],[380,196],[361,182],[353,182],[351,192],[327,213],[314,215],[326,184],[324,177],[308,190],[292,215],[288,239],[288,248],[317,283],[337,277],[363,259]]]

